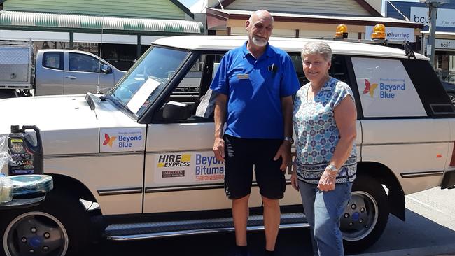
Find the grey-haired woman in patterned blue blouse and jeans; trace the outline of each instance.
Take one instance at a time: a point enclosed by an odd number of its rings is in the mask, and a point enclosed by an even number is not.
[[[291,184],[302,196],[314,255],[344,255],[339,219],[356,178],[356,105],[349,85],[329,76],[327,43],[307,43],[302,59],[309,83],[295,97],[297,168]]]

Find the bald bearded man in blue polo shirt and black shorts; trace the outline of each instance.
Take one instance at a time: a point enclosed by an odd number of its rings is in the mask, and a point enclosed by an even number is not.
[[[248,41],[221,59],[211,89],[215,104],[214,153],[225,162],[225,192],[232,199],[239,255],[247,255],[246,222],[253,168],[264,203],[265,252],[273,255],[279,199],[290,163],[292,95],[300,85],[289,55],[269,45],[273,17],[258,10],[246,21]],[[223,127],[226,130],[223,135]]]

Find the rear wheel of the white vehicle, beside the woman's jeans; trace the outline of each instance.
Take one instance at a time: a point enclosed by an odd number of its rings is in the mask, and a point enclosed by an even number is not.
[[[358,176],[340,220],[344,250],[357,253],[372,246],[384,232],[388,213],[384,187],[370,176]]]

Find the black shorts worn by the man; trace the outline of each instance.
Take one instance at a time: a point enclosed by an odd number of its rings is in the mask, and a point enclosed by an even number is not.
[[[259,192],[269,199],[281,199],[286,190],[282,159],[274,156],[283,140],[237,138],[225,134],[225,192],[229,199],[240,199],[251,192],[253,169]]]

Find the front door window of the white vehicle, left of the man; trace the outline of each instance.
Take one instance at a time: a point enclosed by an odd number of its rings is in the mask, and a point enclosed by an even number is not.
[[[201,55],[179,85],[167,97],[166,104],[185,106],[186,113],[174,122],[213,122],[216,94],[209,90],[223,55]]]

